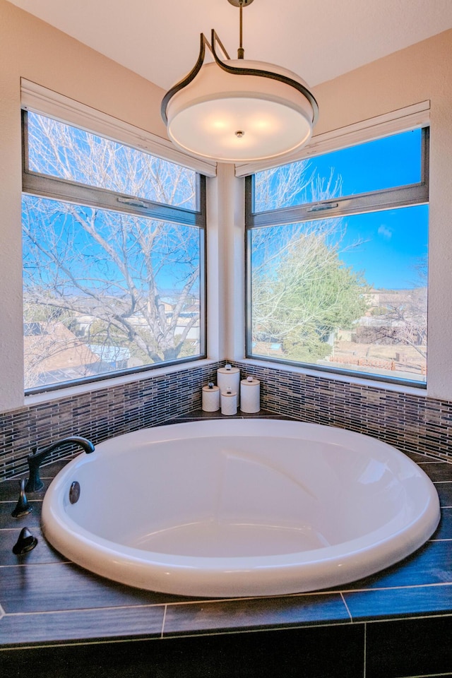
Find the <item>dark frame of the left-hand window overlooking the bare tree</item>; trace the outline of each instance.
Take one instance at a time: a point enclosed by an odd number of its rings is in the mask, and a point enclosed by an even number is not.
[[[30,109],[31,110],[31,109]],[[47,112],[40,112],[32,109],[39,115],[44,117],[54,118],[52,114]],[[64,124],[81,128],[80,125],[74,124],[71,121],[64,121]],[[80,379],[73,379],[68,381],[60,381],[44,386],[35,386],[32,388],[25,388],[25,396],[32,396],[37,393],[44,393],[47,391],[59,391],[63,388],[71,386],[78,386],[89,384],[96,381],[105,381],[107,379],[114,379],[121,376],[129,376],[133,374],[140,374],[145,371],[153,369],[161,369],[162,367],[184,364],[187,362],[195,362],[206,359],[207,357],[207,290],[206,290],[206,252],[207,252],[207,238],[206,238],[206,220],[207,220],[207,206],[206,206],[206,176],[201,174],[197,169],[189,167],[196,172],[196,209],[188,210],[186,208],[167,205],[164,203],[157,203],[148,199],[131,196],[129,194],[111,191],[109,189],[102,189],[98,186],[88,186],[88,184],[81,184],[79,182],[72,182],[68,179],[61,179],[59,177],[52,177],[49,174],[41,174],[40,172],[33,172],[28,167],[28,107],[23,106],[21,109],[21,125],[22,125],[22,194],[38,196],[41,198],[48,198],[49,200],[74,203],[81,206],[88,206],[100,208],[104,210],[128,213],[138,217],[151,218],[163,222],[176,223],[183,226],[196,227],[201,232],[201,247],[200,247],[200,263],[199,263],[199,285],[200,285],[200,351],[196,356],[188,356],[180,359],[162,361],[153,364],[141,365],[140,367],[129,367],[126,369],[118,369],[105,374],[98,374],[95,376],[82,377]],[[104,136],[104,138],[111,139],[111,136],[102,135],[100,131],[93,131],[96,136]],[[118,135],[119,136],[119,135]],[[129,145],[131,148],[142,153],[153,155],[149,150],[138,148],[132,143],[127,143],[121,138],[115,138],[119,144]],[[162,155],[156,156],[162,157]],[[165,158],[162,158],[165,160]],[[181,162],[174,160],[167,160],[173,164],[181,165]],[[186,165],[183,165],[184,167]]]

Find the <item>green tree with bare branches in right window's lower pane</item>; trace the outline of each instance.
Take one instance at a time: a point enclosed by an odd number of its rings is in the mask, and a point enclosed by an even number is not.
[[[261,231],[252,286],[256,339],[280,343],[287,359],[325,357],[334,331],[350,328],[367,309],[362,274],[340,259],[340,220]]]

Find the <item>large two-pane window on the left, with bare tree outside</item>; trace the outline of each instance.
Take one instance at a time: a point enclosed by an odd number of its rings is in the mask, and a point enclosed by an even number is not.
[[[23,112],[25,388],[203,357],[205,180]]]

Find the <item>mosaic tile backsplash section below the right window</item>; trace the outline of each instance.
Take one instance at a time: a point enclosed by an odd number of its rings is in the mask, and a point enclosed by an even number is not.
[[[246,376],[261,381],[262,407],[316,424],[364,433],[403,451],[421,452],[452,462],[452,402],[424,393],[388,391],[377,386],[294,374],[287,369],[250,367]]]

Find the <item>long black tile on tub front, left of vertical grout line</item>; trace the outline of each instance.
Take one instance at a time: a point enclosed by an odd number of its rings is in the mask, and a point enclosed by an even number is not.
[[[0,653],[8,678],[362,678],[360,625]],[[26,665],[24,665],[26,662]],[[23,667],[23,672],[20,668]]]

